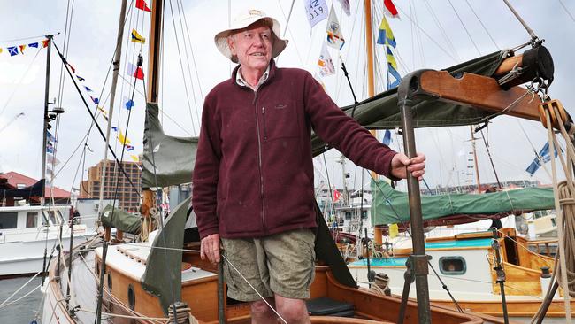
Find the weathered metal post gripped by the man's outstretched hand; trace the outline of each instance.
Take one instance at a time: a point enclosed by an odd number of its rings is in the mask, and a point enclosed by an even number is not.
[[[406,77],[407,79],[407,77]],[[400,112],[403,128],[403,148],[408,158],[416,157],[415,134],[412,125],[411,107],[414,102],[408,98],[410,92],[410,79],[402,81],[398,91]],[[407,189],[410,198],[410,222],[411,240],[413,241],[413,272],[415,274],[415,286],[418,298],[418,321],[419,323],[431,323],[431,310],[429,304],[429,289],[427,284],[426,242],[423,232],[423,217],[421,213],[421,197],[419,195],[419,182],[409,172],[407,173]]]

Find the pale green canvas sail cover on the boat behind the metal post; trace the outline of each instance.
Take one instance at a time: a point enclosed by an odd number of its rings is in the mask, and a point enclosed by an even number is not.
[[[421,197],[424,220],[452,215],[489,215],[553,208],[555,200],[552,188],[525,188],[479,195],[449,194]],[[372,180],[372,224],[384,225],[409,221],[410,202],[407,193],[391,188],[386,181]]]

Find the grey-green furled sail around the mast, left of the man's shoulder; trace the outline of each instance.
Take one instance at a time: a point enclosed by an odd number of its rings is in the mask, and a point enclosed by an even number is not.
[[[192,181],[197,137],[164,134],[157,104],[146,104],[142,153],[142,188],[168,187]]]

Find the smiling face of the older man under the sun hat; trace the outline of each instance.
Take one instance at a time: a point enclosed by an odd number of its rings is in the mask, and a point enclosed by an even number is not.
[[[263,21],[228,37],[227,42],[242,69],[264,71],[272,60],[272,30]]]

